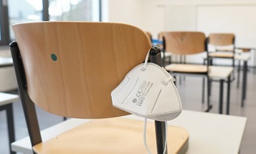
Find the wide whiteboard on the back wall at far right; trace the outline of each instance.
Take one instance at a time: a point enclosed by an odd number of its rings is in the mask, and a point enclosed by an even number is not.
[[[256,6],[198,6],[197,31],[206,35],[231,32],[236,35],[236,46],[256,47]],[[249,65],[256,65],[256,54],[251,53]]]

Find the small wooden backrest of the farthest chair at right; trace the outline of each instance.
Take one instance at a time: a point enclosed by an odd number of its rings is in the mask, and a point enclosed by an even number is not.
[[[208,36],[208,44],[213,46],[234,45],[235,35],[232,33],[211,33]]]

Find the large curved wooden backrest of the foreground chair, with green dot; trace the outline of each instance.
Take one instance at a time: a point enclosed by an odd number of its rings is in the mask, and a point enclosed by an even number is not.
[[[145,59],[151,42],[122,23],[39,22],[13,26],[32,102],[53,114],[109,118],[111,91]]]

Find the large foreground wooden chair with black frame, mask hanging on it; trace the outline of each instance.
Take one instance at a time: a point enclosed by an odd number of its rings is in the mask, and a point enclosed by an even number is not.
[[[115,118],[128,113],[113,107],[110,96],[151,49],[144,31],[122,23],[90,22],[20,23],[13,30],[17,43],[11,44],[11,53],[34,152],[147,152],[143,122]],[[151,51],[151,61],[156,56],[160,53]],[[93,120],[42,142],[34,103],[53,114]],[[162,153],[164,123],[156,121],[155,126],[156,137],[151,133],[154,125],[147,128],[147,144],[152,152]],[[187,131],[169,127],[168,133],[173,135],[168,137],[169,152],[186,152]]]

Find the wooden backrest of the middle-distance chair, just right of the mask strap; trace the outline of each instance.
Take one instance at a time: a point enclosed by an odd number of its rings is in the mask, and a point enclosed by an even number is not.
[[[164,32],[164,51],[177,55],[207,52],[206,36],[197,31]]]

